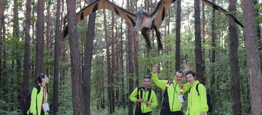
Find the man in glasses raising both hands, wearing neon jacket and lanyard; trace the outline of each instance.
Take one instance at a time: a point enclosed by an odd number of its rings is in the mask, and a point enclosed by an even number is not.
[[[181,81],[184,79],[183,72],[178,70],[176,72],[176,75],[174,76],[174,80],[172,81],[172,83],[168,84],[169,83],[168,80],[159,80],[157,78],[157,73],[156,73],[157,67],[158,67],[157,64],[153,65],[152,80],[154,84],[156,84],[156,86],[158,86],[159,88],[165,91],[162,99],[160,115],[170,115],[170,114],[182,115],[181,112],[181,107],[183,102],[182,96],[184,95],[185,92],[187,92],[190,89],[191,85],[189,83],[184,84],[183,91],[181,92],[182,89]],[[185,67],[184,72],[189,70],[189,66],[187,64],[185,64],[184,67]]]

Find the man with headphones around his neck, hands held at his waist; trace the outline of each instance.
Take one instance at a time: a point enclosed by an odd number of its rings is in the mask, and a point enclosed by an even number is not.
[[[151,115],[152,107],[157,106],[156,94],[151,89],[150,78],[145,78],[143,84],[142,87],[135,88],[129,96],[131,101],[137,102],[135,115]]]

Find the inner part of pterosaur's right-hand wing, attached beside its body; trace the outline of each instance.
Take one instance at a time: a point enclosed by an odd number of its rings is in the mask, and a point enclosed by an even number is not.
[[[176,0],[160,0],[157,3],[157,7],[155,11],[151,14],[151,17],[154,18],[153,24],[156,26],[158,31],[162,24],[162,21],[165,18],[165,15],[167,14],[167,11],[169,10],[172,3],[175,1]]]

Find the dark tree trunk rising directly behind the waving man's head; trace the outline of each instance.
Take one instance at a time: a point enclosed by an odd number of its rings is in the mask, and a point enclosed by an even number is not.
[[[181,0],[177,0],[176,13],[176,71],[180,70]]]

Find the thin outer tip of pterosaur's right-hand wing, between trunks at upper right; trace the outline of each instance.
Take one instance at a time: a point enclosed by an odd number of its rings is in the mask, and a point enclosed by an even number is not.
[[[208,4],[208,6],[211,6],[212,8],[218,10],[219,12],[225,14],[227,17],[229,17],[230,19],[234,20],[238,25],[240,25],[242,28],[244,28],[244,26],[237,20],[236,17],[234,17],[233,15],[231,14],[228,14],[228,11],[221,8],[220,6],[217,6],[216,4],[214,4],[213,2],[211,1],[208,1],[208,0],[200,0],[206,4]]]

